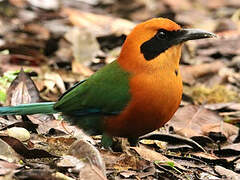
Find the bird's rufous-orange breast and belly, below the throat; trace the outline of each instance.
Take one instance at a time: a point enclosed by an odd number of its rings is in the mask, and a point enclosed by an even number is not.
[[[176,112],[182,97],[180,74],[140,74],[130,81],[131,101],[123,112],[105,120],[112,136],[139,137],[162,127]],[[144,79],[144,81],[143,81]]]

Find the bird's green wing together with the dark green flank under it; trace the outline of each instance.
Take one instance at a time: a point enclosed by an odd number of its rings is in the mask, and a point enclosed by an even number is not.
[[[95,131],[102,116],[120,113],[130,101],[130,76],[114,61],[67,91],[54,108],[83,129]]]

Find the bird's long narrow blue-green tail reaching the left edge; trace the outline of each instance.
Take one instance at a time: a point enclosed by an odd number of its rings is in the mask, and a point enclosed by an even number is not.
[[[21,104],[17,106],[0,107],[0,116],[3,115],[30,115],[30,114],[53,114],[55,102],[43,102],[33,104]]]

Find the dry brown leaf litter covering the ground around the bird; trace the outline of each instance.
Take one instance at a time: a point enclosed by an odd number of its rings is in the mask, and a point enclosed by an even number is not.
[[[99,137],[63,126],[56,114],[1,117],[0,178],[238,178],[239,1],[4,0],[0,7],[0,75],[18,74],[8,90],[12,77],[0,77],[2,105],[56,101],[113,61],[132,27],[148,18],[168,17],[219,36],[185,45],[181,107],[138,147],[119,138],[118,152],[101,149]],[[14,138],[16,127],[30,137]]]

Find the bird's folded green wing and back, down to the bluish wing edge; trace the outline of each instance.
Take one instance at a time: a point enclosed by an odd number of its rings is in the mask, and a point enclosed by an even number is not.
[[[66,93],[54,107],[65,113],[88,109],[120,112],[130,101],[129,78],[114,61]]]

